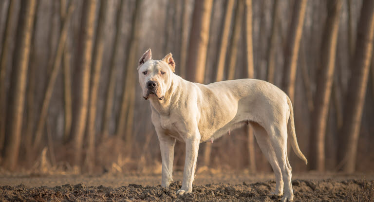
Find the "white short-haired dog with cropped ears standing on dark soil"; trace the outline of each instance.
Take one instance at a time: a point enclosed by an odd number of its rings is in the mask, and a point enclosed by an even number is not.
[[[138,64],[143,97],[150,100],[152,123],[160,141],[162,186],[172,182],[174,145],[186,143],[182,188],[192,192],[199,144],[212,141],[228,131],[250,124],[256,140],[276,177],[274,194],[292,201],[291,166],[287,158],[287,137],[296,154],[307,163],[295,134],[292,104],[276,86],[256,79],[238,79],[203,85],[174,74],[171,53],[152,60],[150,49]]]

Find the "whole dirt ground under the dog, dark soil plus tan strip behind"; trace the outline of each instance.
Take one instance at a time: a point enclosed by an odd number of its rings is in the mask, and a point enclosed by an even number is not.
[[[364,190],[373,192],[374,175],[295,173],[294,201],[354,201]],[[364,180],[363,180],[364,179]],[[193,192],[177,196],[182,173],[163,188],[160,174],[102,176],[0,176],[1,201],[152,201],[152,202],[276,202],[273,174],[198,173]],[[364,183],[362,183],[364,182]],[[372,187],[370,185],[372,184]],[[374,200],[374,199],[371,199]]]

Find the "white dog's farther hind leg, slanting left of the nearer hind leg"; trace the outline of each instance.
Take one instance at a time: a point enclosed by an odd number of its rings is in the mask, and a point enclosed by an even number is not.
[[[259,144],[263,155],[265,155],[267,161],[270,163],[271,167],[273,168],[275,174],[275,191],[272,194],[277,196],[281,196],[283,194],[283,180],[282,180],[282,173],[281,168],[279,167],[277,157],[274,152],[274,148],[271,144],[269,135],[267,134],[266,130],[262,128],[257,123],[251,123],[253,128],[257,143]]]

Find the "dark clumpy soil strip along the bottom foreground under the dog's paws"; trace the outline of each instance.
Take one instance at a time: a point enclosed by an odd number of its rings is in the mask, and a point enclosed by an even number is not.
[[[374,181],[372,181],[373,183]],[[360,180],[293,180],[294,201],[332,202],[357,199],[362,192]],[[176,195],[182,183],[177,181],[169,188],[129,184],[118,188],[105,186],[86,186],[85,184],[65,184],[55,187],[29,188],[18,186],[1,186],[2,201],[125,201],[125,202],[194,202],[194,201],[232,201],[232,202],[276,202],[281,197],[270,193],[275,189],[274,181],[254,184],[206,184],[194,185],[193,192],[184,196]]]

